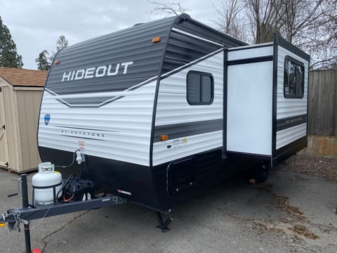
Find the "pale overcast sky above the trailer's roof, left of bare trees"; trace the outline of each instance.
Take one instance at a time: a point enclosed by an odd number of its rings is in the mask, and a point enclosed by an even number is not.
[[[161,2],[176,2],[174,0]],[[218,0],[213,1],[218,4]],[[184,0],[192,18],[215,27],[212,1]],[[11,32],[23,68],[37,69],[35,59],[44,49],[55,51],[60,35],[69,44],[131,27],[139,22],[164,18],[153,15],[152,4],[146,0],[0,0],[0,16]]]

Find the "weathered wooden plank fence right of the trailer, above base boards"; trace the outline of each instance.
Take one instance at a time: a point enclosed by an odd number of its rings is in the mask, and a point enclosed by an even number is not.
[[[337,70],[309,73],[308,134],[337,136]]]

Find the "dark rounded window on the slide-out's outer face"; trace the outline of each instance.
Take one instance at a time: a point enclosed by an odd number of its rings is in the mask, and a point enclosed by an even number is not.
[[[284,58],[284,97],[303,98],[304,65],[298,60],[286,56]]]

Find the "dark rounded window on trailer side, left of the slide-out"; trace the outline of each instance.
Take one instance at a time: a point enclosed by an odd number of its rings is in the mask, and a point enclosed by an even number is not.
[[[213,76],[211,73],[187,73],[187,102],[190,105],[209,105],[213,101]]]

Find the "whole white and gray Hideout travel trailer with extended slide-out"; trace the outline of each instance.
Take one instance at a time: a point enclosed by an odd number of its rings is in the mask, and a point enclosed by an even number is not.
[[[185,14],[68,46],[41,101],[41,160],[80,151],[97,190],[164,214],[252,164],[263,181],[307,145],[309,62],[278,35],[246,45]]]

